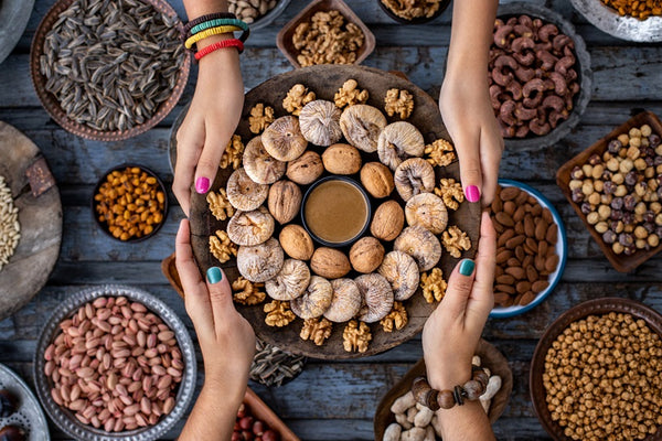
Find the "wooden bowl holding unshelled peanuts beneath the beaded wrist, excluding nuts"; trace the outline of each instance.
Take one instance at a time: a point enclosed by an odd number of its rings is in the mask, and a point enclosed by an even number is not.
[[[483,366],[489,367],[493,374],[496,374],[501,377],[501,389],[499,389],[492,399],[490,413],[488,415],[490,422],[494,423],[505,410],[511,392],[513,391],[513,373],[508,364],[508,359],[505,359],[503,354],[501,354],[501,352],[499,352],[499,349],[492,344],[482,338],[478,343],[476,355],[480,356],[481,364]],[[374,418],[375,440],[381,441],[382,438],[384,438],[384,431],[388,424],[395,422],[395,416],[391,412],[391,406],[393,402],[397,398],[407,394],[412,389],[412,383],[414,379],[421,375],[426,375],[424,358],[420,358],[418,363],[416,363],[414,367],[409,369],[409,372],[407,372],[405,376],[386,392],[384,398],[382,398],[380,405],[377,406],[377,410],[375,411]]]

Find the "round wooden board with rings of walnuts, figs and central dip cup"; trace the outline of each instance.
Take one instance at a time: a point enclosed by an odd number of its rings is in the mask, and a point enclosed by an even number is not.
[[[193,195],[202,270],[221,266],[259,338],[338,359],[423,329],[459,259],[476,252],[437,105],[395,75],[323,65],[246,95],[207,195]]]

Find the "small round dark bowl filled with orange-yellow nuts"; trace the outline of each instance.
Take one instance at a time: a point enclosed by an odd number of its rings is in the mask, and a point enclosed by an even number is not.
[[[168,215],[166,185],[142,165],[120,164],[108,170],[93,194],[96,224],[120,241],[138,243],[153,236]]]

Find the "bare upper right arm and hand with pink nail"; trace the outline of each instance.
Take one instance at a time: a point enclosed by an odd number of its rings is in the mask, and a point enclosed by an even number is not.
[[[503,139],[488,88],[488,57],[495,0],[456,0],[448,64],[439,108],[460,160],[470,202],[491,203],[496,192]]]

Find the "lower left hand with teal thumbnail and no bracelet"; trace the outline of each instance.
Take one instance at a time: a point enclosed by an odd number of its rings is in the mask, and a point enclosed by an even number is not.
[[[222,394],[224,402],[238,407],[255,354],[253,327],[235,310],[232,289],[223,270],[212,267],[206,273],[206,282],[202,280],[191,250],[188,219],[180,224],[175,251],[186,312],[195,326],[204,358],[203,390]]]

